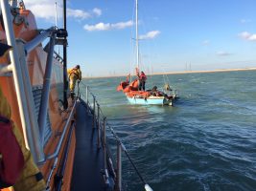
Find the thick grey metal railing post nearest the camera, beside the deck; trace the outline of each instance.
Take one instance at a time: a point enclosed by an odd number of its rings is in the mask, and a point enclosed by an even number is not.
[[[122,147],[121,147],[121,142],[118,140],[117,141],[117,184],[116,184],[116,191],[121,191],[122,190]]]

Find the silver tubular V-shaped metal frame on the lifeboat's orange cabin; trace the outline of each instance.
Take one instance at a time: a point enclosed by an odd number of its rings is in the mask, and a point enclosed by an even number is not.
[[[67,128],[69,127],[75,104],[71,110],[70,115],[67,117],[62,135],[58,140],[58,144],[54,153],[51,155],[48,154],[46,156],[43,150],[43,145],[45,143],[44,132],[46,129],[47,111],[49,108],[48,104],[50,96],[51,76],[53,71],[53,58],[57,54],[54,51],[54,47],[57,44],[65,44],[65,39],[62,37],[63,30],[57,30],[55,27],[52,27],[48,30],[40,31],[35,36],[35,38],[29,42],[16,39],[12,26],[12,8],[10,7],[8,0],[0,0],[0,5],[7,43],[8,45],[12,46],[12,50],[9,52],[11,64],[1,64],[0,74],[12,74],[13,76],[14,88],[17,96],[20,120],[26,147],[30,149],[37,164],[44,163],[47,159],[58,159],[59,149],[63,143],[63,138],[66,135]],[[62,35],[58,35],[59,31],[62,32],[60,32]],[[39,114],[37,118],[35,116],[35,102],[33,101],[34,96],[26,57],[28,53],[35,50],[36,47],[38,47],[38,45],[40,45],[46,38],[50,38],[50,40],[45,47],[45,51],[48,54],[45,73],[43,76],[44,82],[41,93]],[[59,59],[61,58],[60,56],[58,57]],[[63,59],[61,58],[61,60]]]

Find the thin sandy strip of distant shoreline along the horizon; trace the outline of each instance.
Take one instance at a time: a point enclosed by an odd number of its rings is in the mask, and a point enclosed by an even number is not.
[[[256,71],[256,68],[244,68],[244,69],[217,69],[213,71],[183,71],[183,72],[167,72],[167,73],[154,73],[151,75],[159,75],[159,74],[197,74],[197,73],[224,73],[224,72],[240,72],[240,71]],[[149,74],[148,74],[149,75]],[[108,78],[108,77],[124,77],[127,76],[125,74],[120,75],[107,75],[107,76],[89,76],[82,77],[84,79],[89,78]]]

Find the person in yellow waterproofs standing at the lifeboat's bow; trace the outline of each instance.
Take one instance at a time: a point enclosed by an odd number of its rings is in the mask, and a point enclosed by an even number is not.
[[[75,87],[76,87],[76,82],[80,83],[81,81],[81,70],[80,70],[80,65],[77,65],[73,69],[68,69],[68,78],[69,78],[69,89],[71,96],[74,95]]]

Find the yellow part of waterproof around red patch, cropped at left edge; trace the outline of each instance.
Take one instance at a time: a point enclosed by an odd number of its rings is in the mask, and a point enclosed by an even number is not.
[[[3,95],[3,92],[0,87],[0,114],[3,117],[7,117],[11,119],[12,113],[11,113],[11,107],[6,99],[6,97]],[[23,171],[19,177],[19,179],[16,181],[16,183],[13,185],[15,191],[23,191],[23,190],[30,190],[30,191],[41,191],[45,189],[45,181],[43,179],[38,179],[38,176],[40,171],[35,165],[35,161],[32,157],[31,152],[26,148],[25,141],[23,139],[23,136],[20,132],[20,130],[16,127],[14,122],[12,121],[12,133],[14,134],[15,138],[17,139],[17,142],[21,148],[25,166],[23,168]],[[12,150],[12,148],[10,148]],[[40,176],[40,175],[39,175]]]

